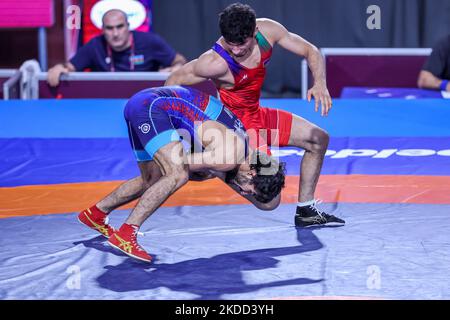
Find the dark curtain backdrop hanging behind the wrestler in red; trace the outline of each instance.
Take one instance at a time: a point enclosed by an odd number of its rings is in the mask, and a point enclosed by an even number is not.
[[[153,30],[188,59],[208,50],[219,37],[218,13],[225,0],[154,0]],[[255,0],[257,17],[282,23],[319,48],[432,47],[450,33],[450,0]],[[367,7],[381,9],[381,30],[369,30]],[[300,94],[300,59],[274,50],[264,95]]]

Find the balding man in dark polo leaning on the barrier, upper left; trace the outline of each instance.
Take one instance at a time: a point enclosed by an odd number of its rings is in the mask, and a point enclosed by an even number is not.
[[[69,62],[48,71],[50,86],[59,84],[62,73],[83,71],[167,71],[186,63],[186,58],[159,35],[130,31],[125,12],[112,9],[103,15],[103,35],[81,47]]]

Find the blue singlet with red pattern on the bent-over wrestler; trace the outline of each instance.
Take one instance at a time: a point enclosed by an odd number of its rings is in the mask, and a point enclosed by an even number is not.
[[[180,129],[195,139],[196,123],[208,120],[222,123],[245,141],[248,139],[242,122],[220,100],[192,88],[142,90],[128,100],[124,113],[137,161],[152,160],[161,147],[182,140]]]

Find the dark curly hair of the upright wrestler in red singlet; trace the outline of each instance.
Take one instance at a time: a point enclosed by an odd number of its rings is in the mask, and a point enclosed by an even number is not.
[[[244,43],[255,32],[255,11],[246,4],[230,4],[219,14],[219,28],[227,42]]]

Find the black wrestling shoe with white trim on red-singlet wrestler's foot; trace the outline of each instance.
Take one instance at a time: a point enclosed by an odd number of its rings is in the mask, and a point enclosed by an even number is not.
[[[309,206],[297,207],[295,213],[295,226],[296,227],[309,227],[313,225],[322,224],[345,224],[345,221],[335,217],[331,214],[327,214],[320,211],[317,208],[317,204],[320,203],[318,200],[314,200],[314,203]]]

